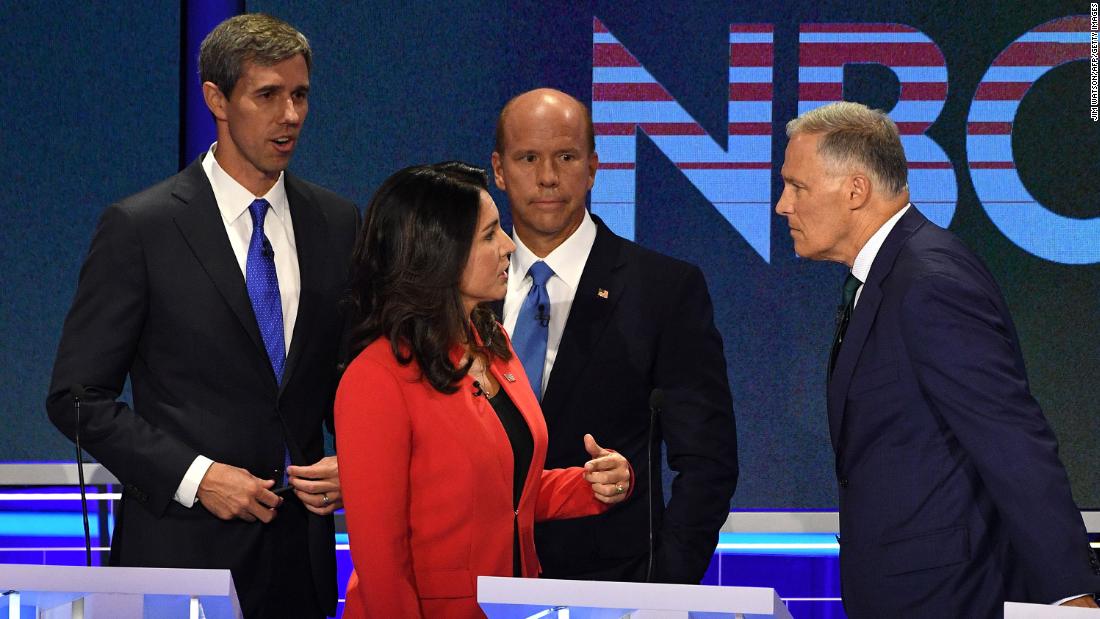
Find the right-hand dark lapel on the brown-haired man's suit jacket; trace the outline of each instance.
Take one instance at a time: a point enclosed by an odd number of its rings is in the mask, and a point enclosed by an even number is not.
[[[286,198],[290,205],[290,221],[294,223],[294,243],[298,253],[298,274],[301,277],[298,295],[298,316],[294,321],[294,333],[290,335],[290,349],[286,355],[283,368],[283,384],[279,393],[294,376],[294,371],[301,358],[302,349],[309,340],[309,330],[316,324],[318,311],[319,287],[323,280],[326,268],[322,252],[327,244],[328,228],[324,214],[308,194],[308,189],[289,173],[285,175]]]

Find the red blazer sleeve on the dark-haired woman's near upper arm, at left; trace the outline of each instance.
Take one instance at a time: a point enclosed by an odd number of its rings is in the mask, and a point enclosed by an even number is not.
[[[366,617],[420,617],[409,548],[413,425],[397,379],[353,363],[336,402],[337,451],[355,595]]]

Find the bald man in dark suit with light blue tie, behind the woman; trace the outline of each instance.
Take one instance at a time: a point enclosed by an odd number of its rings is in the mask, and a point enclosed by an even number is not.
[[[587,212],[597,166],[592,118],[574,98],[539,89],[502,110],[493,172],[517,245],[504,324],[541,397],[547,467],[583,465],[591,432],[636,475],[616,509],[536,526],[542,576],[698,583],[737,483],[722,336],[697,267],[620,239]],[[663,410],[651,430],[654,389]],[[676,474],[667,507],[662,439]]]

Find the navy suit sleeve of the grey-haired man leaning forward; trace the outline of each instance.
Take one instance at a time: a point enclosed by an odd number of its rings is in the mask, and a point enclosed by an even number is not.
[[[925,276],[906,292],[902,330],[921,388],[977,467],[1034,599],[1097,592],[1085,526],[1011,319],[999,294],[966,275]]]

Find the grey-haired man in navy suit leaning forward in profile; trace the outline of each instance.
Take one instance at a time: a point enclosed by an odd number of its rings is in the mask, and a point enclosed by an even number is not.
[[[1100,566],[1008,307],[909,203],[897,126],[839,102],[787,131],[776,211],[800,256],[851,269],[828,379],[848,616],[1091,605]]]

